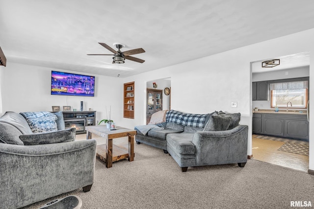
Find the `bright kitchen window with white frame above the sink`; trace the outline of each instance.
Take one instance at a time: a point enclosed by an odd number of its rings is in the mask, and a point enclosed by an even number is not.
[[[291,102],[292,108],[307,108],[308,89],[308,80],[270,83],[271,107],[287,107],[287,103]]]

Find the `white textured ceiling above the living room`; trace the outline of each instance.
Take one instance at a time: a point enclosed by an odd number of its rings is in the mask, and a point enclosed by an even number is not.
[[[127,77],[314,28],[313,0],[0,0],[7,62]],[[143,48],[112,64],[109,46]]]

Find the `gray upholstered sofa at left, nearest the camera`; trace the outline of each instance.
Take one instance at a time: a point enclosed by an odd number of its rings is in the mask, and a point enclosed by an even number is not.
[[[57,118],[62,129],[63,118]],[[96,141],[75,141],[75,128],[33,133],[40,131],[35,120],[31,129],[19,113],[0,118],[0,208],[21,208],[78,188],[86,192],[94,182]]]

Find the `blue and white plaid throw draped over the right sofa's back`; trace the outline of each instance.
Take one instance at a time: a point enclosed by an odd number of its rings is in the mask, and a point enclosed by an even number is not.
[[[185,114],[175,110],[166,113],[166,122],[174,122],[183,126],[204,128],[205,120],[208,114]]]

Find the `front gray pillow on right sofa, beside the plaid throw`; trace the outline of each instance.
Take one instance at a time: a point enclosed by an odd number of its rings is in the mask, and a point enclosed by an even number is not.
[[[231,121],[231,118],[212,115],[203,131],[226,131],[228,130]]]

